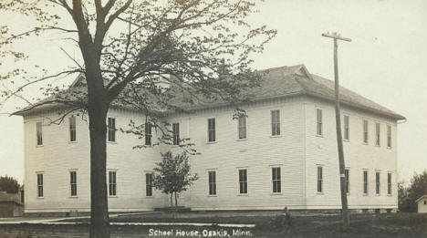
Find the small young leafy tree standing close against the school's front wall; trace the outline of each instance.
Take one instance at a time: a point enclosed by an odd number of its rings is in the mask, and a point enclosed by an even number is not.
[[[161,161],[154,168],[153,185],[163,193],[169,194],[171,207],[173,207],[172,195],[175,196],[175,207],[178,206],[178,196],[186,191],[198,179],[197,174],[191,174],[191,167],[185,152],[172,155],[171,151],[161,153]]]

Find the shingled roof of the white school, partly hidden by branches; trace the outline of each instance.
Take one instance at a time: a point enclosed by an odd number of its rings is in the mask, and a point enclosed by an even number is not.
[[[249,88],[243,92],[244,96],[246,96],[246,98],[250,98],[251,101],[292,97],[297,95],[307,95],[309,97],[322,98],[328,101],[333,101],[335,99],[334,82],[326,78],[310,74],[307,67],[304,65],[273,67],[256,71],[256,73],[260,74],[262,78],[260,86],[256,88]],[[84,83],[83,79],[82,76],[76,78],[70,88],[78,87],[80,83]],[[176,90],[174,93],[176,97],[173,100],[173,106],[184,110],[216,108],[229,104],[228,102],[221,100],[200,101],[194,99],[193,102],[189,102],[182,92]],[[364,98],[347,88],[340,87],[339,97],[340,102],[343,105],[391,119],[405,119],[405,117],[391,109],[382,107],[380,104],[373,102],[368,98]],[[46,101],[46,99],[44,101]],[[126,107],[120,104],[113,104],[113,106]],[[45,105],[45,107],[53,106]],[[164,109],[162,112],[173,113],[172,110],[165,111]],[[17,111],[15,114],[24,115],[26,114],[26,109]]]

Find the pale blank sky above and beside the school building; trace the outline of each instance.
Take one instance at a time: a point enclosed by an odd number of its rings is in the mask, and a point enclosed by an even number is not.
[[[332,42],[321,34],[338,32],[351,38],[338,43],[341,86],[407,118],[398,125],[400,180],[409,181],[414,171],[427,169],[427,1],[267,0],[258,7],[260,12],[249,21],[278,33],[263,54],[252,56],[256,69],[304,64],[310,73],[332,79]],[[26,27],[19,16],[0,16],[3,21]],[[30,55],[26,67],[37,64],[59,72],[71,65],[60,50],[60,37],[31,38],[17,46]],[[22,182],[23,121],[1,114],[16,106],[22,102],[9,101],[0,111],[0,175]]]

